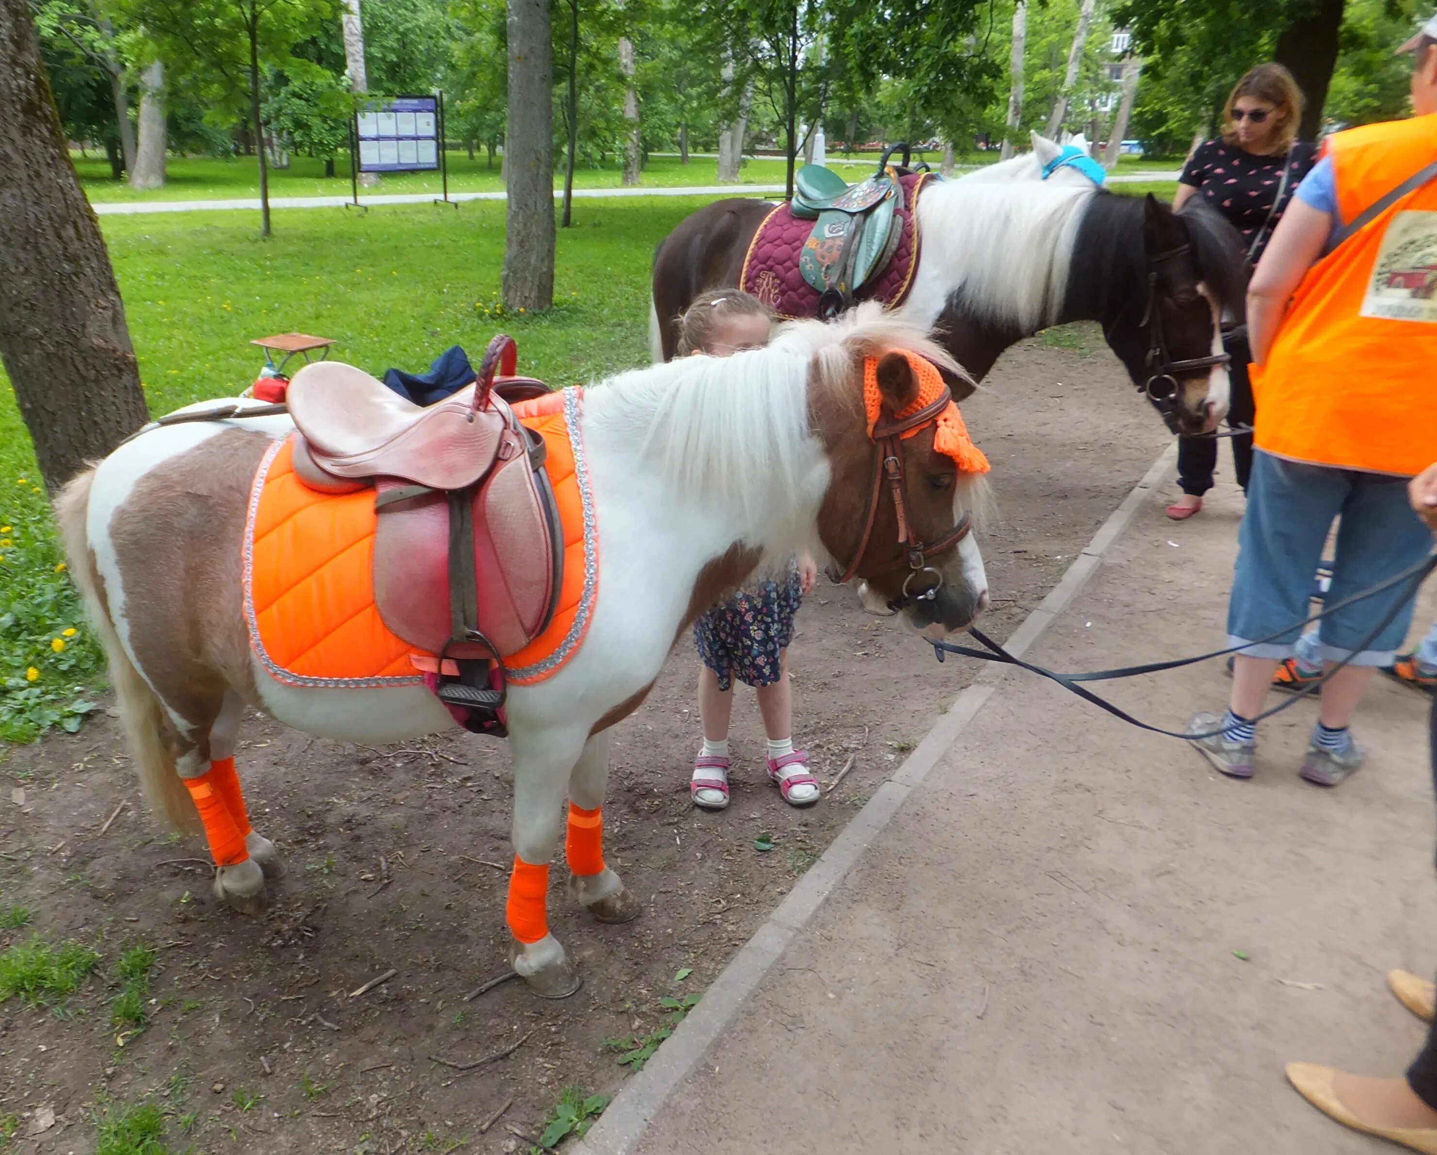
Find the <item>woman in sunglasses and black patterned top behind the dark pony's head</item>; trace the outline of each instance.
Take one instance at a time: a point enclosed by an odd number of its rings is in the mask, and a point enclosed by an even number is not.
[[[1243,234],[1249,266],[1257,264],[1293,191],[1313,165],[1316,148],[1298,141],[1300,116],[1302,93],[1292,73],[1282,65],[1257,65],[1229,95],[1221,135],[1200,144],[1178,178],[1173,207],[1181,208],[1188,198],[1203,197]],[[1223,345],[1233,358],[1227,424],[1233,428],[1252,425],[1247,336],[1240,328],[1229,330]],[[1246,493],[1253,438],[1250,432],[1239,434],[1232,442],[1233,470]],[[1203,494],[1213,487],[1216,467],[1217,438],[1184,437],[1178,441],[1177,473],[1183,496],[1168,506],[1168,517],[1184,521],[1203,509]]]

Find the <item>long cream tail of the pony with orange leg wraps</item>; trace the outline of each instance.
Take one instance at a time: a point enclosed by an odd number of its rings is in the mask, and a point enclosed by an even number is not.
[[[69,481],[55,498],[55,516],[69,557],[70,578],[79,588],[85,609],[109,659],[109,678],[119,701],[119,717],[129,743],[129,756],[139,771],[139,786],[145,800],[171,827],[198,835],[203,832],[200,815],[194,809],[184,779],[180,777],[174,753],[165,741],[170,718],[155,691],[129,661],[101,593],[99,573],[85,532],[93,484],[95,467],[91,465]]]

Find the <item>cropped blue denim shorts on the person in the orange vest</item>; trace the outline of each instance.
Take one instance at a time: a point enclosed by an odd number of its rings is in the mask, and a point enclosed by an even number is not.
[[[1283,631],[1244,654],[1286,658],[1293,652],[1302,629],[1298,622],[1308,616],[1312,575],[1336,517],[1342,521],[1328,606],[1417,565],[1433,546],[1431,533],[1408,504],[1407,478],[1305,465],[1262,450],[1253,454],[1227,605],[1229,645],[1249,645]],[[1400,603],[1392,621],[1368,639]],[[1405,583],[1364,598],[1322,619],[1315,657],[1341,661],[1354,655],[1354,665],[1390,665],[1411,621],[1413,598]]]

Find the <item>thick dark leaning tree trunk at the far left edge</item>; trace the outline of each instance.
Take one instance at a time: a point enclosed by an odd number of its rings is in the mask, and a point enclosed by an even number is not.
[[[149,419],[27,0],[0,0],[0,362],[52,490]]]

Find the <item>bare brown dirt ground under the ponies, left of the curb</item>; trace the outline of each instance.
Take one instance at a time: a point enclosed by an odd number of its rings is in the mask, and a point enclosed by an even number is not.
[[[999,636],[1165,441],[1111,356],[1086,355],[1089,340],[1061,335],[1015,351],[964,407],[994,465],[999,516],[983,550]],[[10,753],[0,914],[34,908],[50,940],[103,954],[65,1017],[0,1004],[0,1122],[19,1116],[23,1136],[56,1118],[16,1149],[89,1152],[96,1105],[118,1112],[148,1099],[171,1116],[177,1149],[418,1152],[466,1141],[466,1151],[527,1151],[514,1129],[537,1138],[562,1087],[612,1092],[627,1069],[605,1040],[650,1036],[668,1021],[660,1000],[701,993],[963,687],[953,664],[940,668],[901,626],[826,585],[799,616],[790,661],[795,737],[815,773],[828,781],[854,760],[836,794],[809,812],[783,806],[763,781],[757,711],[741,694],[733,804],[696,812],[685,784],[697,662],[681,642],[616,733],[605,807],[609,858],[644,917],[599,927],[555,895],[553,931],[585,975],[562,1003],[517,983],[464,1001],[504,970],[509,767],[497,743],[378,751],[247,721],[239,760],[251,812],[289,865],[279,901],[253,921],[214,905],[194,848],[154,835],[112,718]],[[19,804],[13,789],[24,792]],[[764,833],[769,853],[754,849]],[[27,935],[0,931],[0,947]],[[126,1036],[111,1024],[115,961],[138,942],[157,947],[160,964],[148,1029]],[[471,1072],[431,1062],[514,1043],[510,1057]]]

